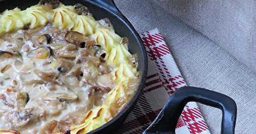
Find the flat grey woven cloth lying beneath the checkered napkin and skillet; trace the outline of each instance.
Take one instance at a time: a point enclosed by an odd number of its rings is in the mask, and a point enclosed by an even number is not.
[[[236,133],[256,133],[256,74],[153,0],[115,3],[139,33],[159,29],[188,85],[226,94],[237,102]],[[211,133],[220,133],[221,111],[200,108]]]

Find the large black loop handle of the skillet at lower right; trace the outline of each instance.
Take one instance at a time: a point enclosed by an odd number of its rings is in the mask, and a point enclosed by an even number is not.
[[[218,92],[186,86],[178,89],[172,96],[170,96],[157,118],[143,132],[143,134],[175,133],[175,128],[181,112],[186,103],[190,101],[200,102],[221,109],[221,133],[234,133],[237,118],[237,105],[233,99]]]

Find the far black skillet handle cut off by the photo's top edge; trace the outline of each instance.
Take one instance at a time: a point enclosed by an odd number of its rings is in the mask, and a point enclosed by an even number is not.
[[[122,15],[122,13],[119,11],[119,9],[117,8],[114,0],[92,0],[94,3],[97,3],[98,5],[100,5],[101,7],[107,9],[107,10],[111,10],[112,12],[114,12],[115,14],[120,14]]]

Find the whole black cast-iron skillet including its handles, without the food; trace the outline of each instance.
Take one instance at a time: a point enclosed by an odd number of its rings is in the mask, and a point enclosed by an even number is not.
[[[140,94],[142,93],[146,72],[147,57],[140,36],[133,28],[132,24],[117,9],[112,0],[60,0],[66,5],[83,4],[90,9],[96,19],[108,17],[114,27],[116,33],[122,37],[129,39],[129,49],[132,53],[137,53],[139,58],[140,85],[137,92],[125,108],[111,121],[93,130],[89,133],[114,133],[114,130],[124,122],[127,115],[131,112],[136,104]],[[0,12],[6,9],[14,9],[19,7],[26,9],[32,5],[36,5],[38,1],[32,0],[0,0]],[[131,11],[132,12],[132,11]],[[228,96],[195,87],[183,87],[176,91],[165,104],[164,108],[157,116],[155,121],[143,133],[175,133],[175,127],[178,118],[185,104],[189,101],[196,101],[206,105],[213,106],[222,110],[221,133],[234,133],[236,123],[237,106],[236,103]]]

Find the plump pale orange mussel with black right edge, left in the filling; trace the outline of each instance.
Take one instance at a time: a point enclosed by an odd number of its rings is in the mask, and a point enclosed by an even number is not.
[[[35,59],[46,59],[49,58],[52,55],[52,49],[51,47],[38,47],[31,52],[28,53],[29,58],[35,58]]]

